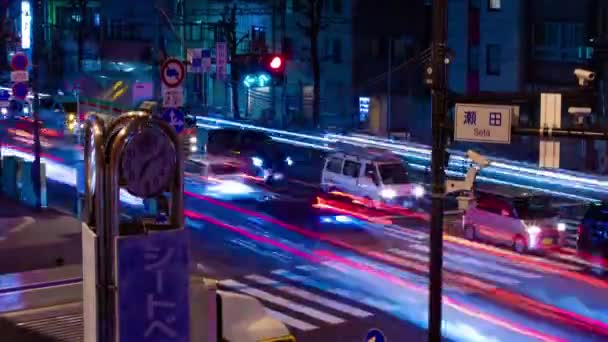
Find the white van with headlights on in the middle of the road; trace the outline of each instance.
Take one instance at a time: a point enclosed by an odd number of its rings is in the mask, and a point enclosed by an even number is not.
[[[321,190],[342,192],[365,199],[366,205],[413,207],[424,188],[410,183],[405,162],[387,150],[363,149],[327,156]]]

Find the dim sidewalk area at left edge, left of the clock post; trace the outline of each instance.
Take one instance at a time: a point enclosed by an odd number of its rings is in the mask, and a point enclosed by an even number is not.
[[[80,231],[71,215],[36,211],[0,195],[0,274],[80,264]]]

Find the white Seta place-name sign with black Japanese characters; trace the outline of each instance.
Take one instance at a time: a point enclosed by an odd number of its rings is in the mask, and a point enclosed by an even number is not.
[[[513,107],[483,104],[456,104],[454,140],[511,143]]]

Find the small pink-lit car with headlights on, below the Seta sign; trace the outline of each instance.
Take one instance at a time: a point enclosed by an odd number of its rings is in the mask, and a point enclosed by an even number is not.
[[[482,187],[462,219],[464,236],[507,245],[518,253],[556,249],[565,241],[550,197],[507,187]]]

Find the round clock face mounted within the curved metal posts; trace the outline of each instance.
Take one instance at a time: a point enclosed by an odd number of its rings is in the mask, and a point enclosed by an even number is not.
[[[141,198],[162,193],[173,177],[176,151],[159,129],[146,128],[130,137],[121,157],[127,191]]]

